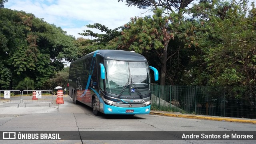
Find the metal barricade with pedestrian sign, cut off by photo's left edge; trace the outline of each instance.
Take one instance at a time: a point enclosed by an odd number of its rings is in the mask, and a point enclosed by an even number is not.
[[[0,90],[0,105],[21,103],[22,94],[20,90]]]

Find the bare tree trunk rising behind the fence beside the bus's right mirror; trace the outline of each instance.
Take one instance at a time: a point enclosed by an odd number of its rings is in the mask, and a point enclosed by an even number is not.
[[[166,60],[167,60],[167,47],[168,41],[164,42],[164,50],[162,54],[161,62],[161,75],[160,75],[160,85],[165,85],[165,73],[166,73]]]

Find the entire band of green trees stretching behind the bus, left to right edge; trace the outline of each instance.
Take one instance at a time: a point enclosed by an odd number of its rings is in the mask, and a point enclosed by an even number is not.
[[[6,1],[0,0],[0,6]],[[28,76],[35,88],[65,87],[68,74],[58,73],[64,60],[71,62],[98,49],[122,49],[143,54],[150,65],[162,70],[167,84],[248,86],[248,90],[256,90],[254,2],[249,8],[246,0],[203,0],[188,10],[184,6],[189,0],[182,6],[172,0],[125,2],[154,10],[154,15],[131,18],[114,30],[98,23],[87,25],[102,32],[81,33],[93,40],[68,36],[33,14],[0,8],[0,89],[15,88]],[[178,13],[169,9],[168,2],[170,6],[178,4]],[[184,18],[184,12],[192,17]]]

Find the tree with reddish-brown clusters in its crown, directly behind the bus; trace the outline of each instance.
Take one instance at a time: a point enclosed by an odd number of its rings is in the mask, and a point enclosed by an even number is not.
[[[160,84],[165,84],[165,75],[172,85],[182,79],[188,52],[198,45],[192,22],[175,13],[165,16],[157,9],[152,17],[132,18],[124,27],[118,48],[143,53],[151,65],[161,69]]]

